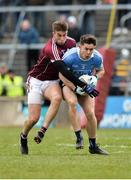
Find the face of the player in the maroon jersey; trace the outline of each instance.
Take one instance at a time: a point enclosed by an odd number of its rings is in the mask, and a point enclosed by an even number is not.
[[[58,45],[63,45],[63,44],[65,44],[65,41],[67,39],[67,31],[66,32],[55,31],[55,32],[53,32],[53,37],[54,37],[55,42]]]

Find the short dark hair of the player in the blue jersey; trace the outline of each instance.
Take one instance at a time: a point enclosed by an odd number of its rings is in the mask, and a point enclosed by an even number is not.
[[[80,44],[93,44],[96,46],[96,37],[91,34],[85,34],[80,37]]]

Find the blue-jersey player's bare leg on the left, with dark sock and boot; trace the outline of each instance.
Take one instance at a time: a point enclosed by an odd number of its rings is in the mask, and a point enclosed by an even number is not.
[[[63,87],[63,96],[68,104],[69,117],[76,135],[76,149],[81,149],[83,148],[83,137],[81,134],[79,114],[77,112],[77,96],[67,86]]]

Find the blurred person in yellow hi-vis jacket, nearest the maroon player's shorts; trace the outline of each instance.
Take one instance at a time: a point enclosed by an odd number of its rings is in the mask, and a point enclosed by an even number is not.
[[[9,70],[5,79],[6,96],[24,96],[24,82],[21,76],[17,76],[13,70]]]

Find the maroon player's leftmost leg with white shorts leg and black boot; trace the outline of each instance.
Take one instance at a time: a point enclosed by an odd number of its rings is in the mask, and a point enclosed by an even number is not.
[[[20,151],[22,154],[28,154],[27,136],[31,128],[39,120],[42,103],[41,82],[37,79],[29,78],[27,85],[29,115],[20,134]]]

